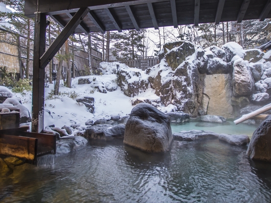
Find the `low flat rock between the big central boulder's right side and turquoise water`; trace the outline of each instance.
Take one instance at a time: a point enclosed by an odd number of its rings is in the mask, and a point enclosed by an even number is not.
[[[216,139],[218,137],[217,133],[212,131],[181,131],[180,133],[174,133],[173,138],[180,141],[193,141],[198,139]]]

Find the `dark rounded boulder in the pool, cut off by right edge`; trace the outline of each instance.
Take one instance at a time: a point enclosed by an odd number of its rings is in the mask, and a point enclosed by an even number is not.
[[[253,160],[271,162],[271,115],[253,133],[247,156]]]

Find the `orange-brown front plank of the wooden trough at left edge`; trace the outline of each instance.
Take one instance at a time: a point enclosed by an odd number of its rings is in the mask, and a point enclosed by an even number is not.
[[[37,138],[0,135],[0,154],[35,160],[37,158]]]

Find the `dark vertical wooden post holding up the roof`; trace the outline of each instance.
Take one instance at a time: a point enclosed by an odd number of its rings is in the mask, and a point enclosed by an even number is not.
[[[43,131],[44,79],[45,69],[40,67],[40,57],[45,52],[46,15],[35,15],[33,93],[32,93],[32,132]]]

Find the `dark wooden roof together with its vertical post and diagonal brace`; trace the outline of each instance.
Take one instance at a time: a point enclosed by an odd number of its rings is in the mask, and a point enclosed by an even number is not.
[[[43,131],[44,68],[72,33],[264,20],[270,10],[271,0],[25,0],[25,15],[35,17],[32,132]],[[63,30],[45,51],[46,16]]]

